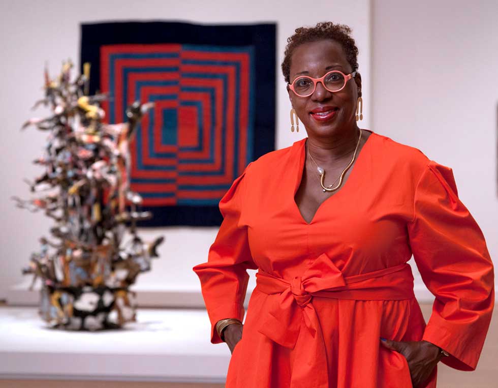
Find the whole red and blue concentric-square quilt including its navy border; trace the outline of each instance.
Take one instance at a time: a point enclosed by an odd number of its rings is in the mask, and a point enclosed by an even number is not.
[[[274,24],[117,22],[81,26],[90,93],[109,123],[133,101],[154,107],[131,143],[139,226],[220,225],[218,203],[245,166],[274,150]]]

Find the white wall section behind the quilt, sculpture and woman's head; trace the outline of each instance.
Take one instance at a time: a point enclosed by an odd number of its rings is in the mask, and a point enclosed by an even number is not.
[[[19,210],[12,195],[28,197],[22,178],[33,178],[41,169],[30,162],[41,155],[45,136],[35,129],[20,132],[19,127],[33,113],[29,108],[42,95],[43,67],[49,61],[52,74],[57,74],[60,62],[68,57],[78,62],[79,23],[108,20],[180,20],[204,23],[278,23],[277,49],[277,123],[276,147],[282,148],[299,140],[290,132],[289,109],[285,82],[279,70],[286,38],[294,28],[331,20],[350,25],[357,41],[362,79],[370,76],[370,7],[368,0],[315,0],[305,5],[305,12],[290,2],[253,0],[205,1],[95,1],[74,0],[0,2],[0,203],[2,203],[2,233],[0,233],[0,299],[7,289],[23,281],[20,268],[28,263],[30,252],[38,249],[38,238],[48,235],[50,222],[42,214]],[[369,128],[369,82],[363,84],[365,100],[362,127]],[[142,274],[137,286],[200,290],[195,264],[207,260],[209,245],[217,228],[148,229],[147,235],[165,234],[160,248],[161,258],[154,262],[152,272]]]

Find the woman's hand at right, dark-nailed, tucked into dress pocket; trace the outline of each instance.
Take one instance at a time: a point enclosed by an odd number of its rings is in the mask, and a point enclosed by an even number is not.
[[[427,341],[404,342],[381,339],[381,343],[386,348],[401,353],[407,359],[414,388],[423,386],[443,356],[438,346]]]

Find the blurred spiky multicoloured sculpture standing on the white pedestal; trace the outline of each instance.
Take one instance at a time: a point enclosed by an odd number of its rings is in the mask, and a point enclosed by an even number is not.
[[[135,320],[129,287],[164,241],[138,235],[137,221],[152,215],[140,211],[142,197],[129,180],[130,141],[153,104],[136,101],[127,123],[105,124],[100,102],[107,96],[88,95],[89,64],[74,81],[72,68],[64,63],[56,79],[45,70],[45,97],[34,108],[51,115],[22,126],[48,133],[44,155],[33,161],[44,172],[26,181],[35,198],[13,199],[55,222],[23,270],[33,274],[32,287],[42,280],[40,315],[52,327],[94,331]]]

